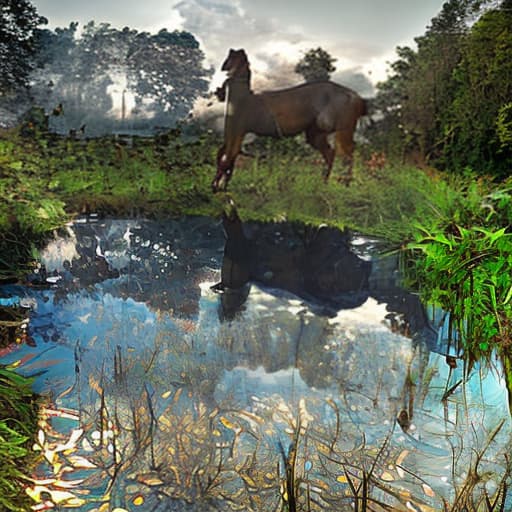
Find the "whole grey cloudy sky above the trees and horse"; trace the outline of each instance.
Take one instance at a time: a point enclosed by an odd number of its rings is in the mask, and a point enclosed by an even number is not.
[[[229,48],[245,48],[254,89],[300,81],[293,66],[321,46],[337,59],[333,80],[371,92],[398,45],[424,33],[442,0],[32,0],[49,28],[90,20],[150,32],[188,30],[207,65],[219,69]],[[222,81],[217,72],[212,86]]]

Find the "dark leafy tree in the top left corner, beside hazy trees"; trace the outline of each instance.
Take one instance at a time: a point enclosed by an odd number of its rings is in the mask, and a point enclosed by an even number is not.
[[[0,94],[27,86],[34,66],[34,31],[46,23],[27,0],[0,3]]]

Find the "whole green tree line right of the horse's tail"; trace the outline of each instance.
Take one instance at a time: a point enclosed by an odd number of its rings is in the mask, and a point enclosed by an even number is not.
[[[512,1],[449,0],[397,48],[372,127],[389,152],[451,172],[512,169]]]

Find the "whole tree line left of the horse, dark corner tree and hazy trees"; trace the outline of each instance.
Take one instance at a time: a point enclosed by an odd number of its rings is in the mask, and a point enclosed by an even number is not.
[[[213,70],[189,32],[150,34],[93,21],[80,34],[75,22],[51,31],[27,0],[5,0],[0,13],[0,101],[65,113],[65,124],[51,118],[56,131],[86,123],[90,132],[101,122],[108,132],[128,118],[132,126],[148,119],[169,126],[208,90]]]

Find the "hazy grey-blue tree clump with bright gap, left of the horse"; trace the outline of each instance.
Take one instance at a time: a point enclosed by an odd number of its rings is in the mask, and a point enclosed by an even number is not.
[[[86,124],[94,135],[121,123],[130,129],[169,126],[208,88],[204,55],[188,32],[149,34],[90,22],[77,37],[76,28],[72,23],[38,33],[40,67],[31,75],[32,94],[47,111],[64,105],[65,116],[50,119],[54,130]],[[134,109],[125,97],[135,101]]]

